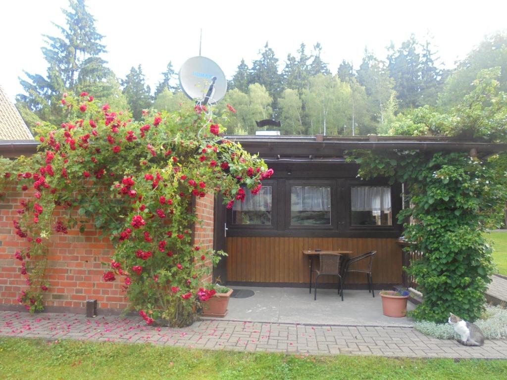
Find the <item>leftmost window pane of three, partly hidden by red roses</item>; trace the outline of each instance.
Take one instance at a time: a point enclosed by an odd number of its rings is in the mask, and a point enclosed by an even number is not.
[[[244,187],[245,201],[235,202],[232,208],[233,224],[271,224],[271,186],[262,186],[257,195]]]

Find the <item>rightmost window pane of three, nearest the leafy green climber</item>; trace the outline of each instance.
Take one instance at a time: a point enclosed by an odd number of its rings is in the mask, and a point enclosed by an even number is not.
[[[389,186],[352,186],[352,225],[392,225]]]

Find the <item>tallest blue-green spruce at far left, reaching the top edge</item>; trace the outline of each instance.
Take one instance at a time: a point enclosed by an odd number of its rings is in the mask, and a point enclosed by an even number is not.
[[[84,0],[70,0],[69,10],[62,10],[67,27],[56,25],[61,36],[44,35],[47,46],[42,48],[48,62],[47,75],[30,74],[20,79],[25,94],[17,96],[17,106],[22,115],[29,112],[43,121],[56,123],[63,115],[60,100],[65,91],[80,93],[99,90],[97,97],[111,95],[114,88],[107,88],[114,77],[100,54],[105,52],[100,44],[102,35],[96,31],[95,19],[88,13]],[[113,86],[114,87],[114,86]],[[30,120],[25,119],[30,125]]]

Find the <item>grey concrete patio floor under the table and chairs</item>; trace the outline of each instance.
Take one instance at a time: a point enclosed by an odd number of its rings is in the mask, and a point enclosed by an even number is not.
[[[368,290],[345,290],[343,302],[336,289],[318,289],[317,300],[308,288],[275,288],[233,286],[250,289],[255,295],[231,298],[224,318],[230,321],[294,323],[345,326],[413,326],[408,317],[392,318],[382,314],[382,299]],[[411,302],[408,310],[415,309]]]

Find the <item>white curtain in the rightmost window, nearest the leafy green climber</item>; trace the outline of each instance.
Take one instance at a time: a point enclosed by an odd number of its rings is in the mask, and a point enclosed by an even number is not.
[[[352,186],[352,211],[372,211],[380,215],[391,211],[391,188],[389,186]]]

